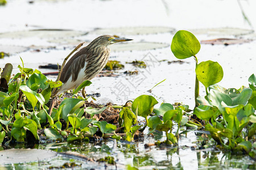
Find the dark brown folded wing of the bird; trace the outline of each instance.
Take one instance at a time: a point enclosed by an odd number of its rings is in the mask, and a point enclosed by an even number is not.
[[[72,82],[76,81],[80,70],[85,66],[87,55],[87,50],[85,48],[82,48],[81,50],[79,50],[79,52],[74,54],[71,59],[69,59],[60,75],[61,82],[67,82],[71,76]]]

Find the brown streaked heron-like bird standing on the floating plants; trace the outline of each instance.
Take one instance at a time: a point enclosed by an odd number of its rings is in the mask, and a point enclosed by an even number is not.
[[[110,56],[109,45],[133,39],[102,35],[75,53],[63,67],[60,81],[63,85],[52,92],[52,97],[77,88],[85,80],[93,79],[104,69]],[[85,97],[85,96],[84,96]]]

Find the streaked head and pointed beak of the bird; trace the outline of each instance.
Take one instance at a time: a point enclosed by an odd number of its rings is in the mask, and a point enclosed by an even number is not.
[[[91,43],[102,45],[102,46],[108,46],[117,42],[123,42],[123,41],[131,41],[132,39],[125,39],[125,38],[119,38],[115,36],[110,35],[102,35],[97,37],[95,40],[93,40]]]

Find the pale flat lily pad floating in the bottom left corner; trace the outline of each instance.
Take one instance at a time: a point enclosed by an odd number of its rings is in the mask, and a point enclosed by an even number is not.
[[[37,149],[10,149],[0,151],[0,164],[40,162],[57,156],[57,152]]]

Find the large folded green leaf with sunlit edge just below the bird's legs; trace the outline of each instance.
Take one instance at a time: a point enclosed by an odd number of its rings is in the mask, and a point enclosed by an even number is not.
[[[61,108],[61,115],[66,122],[68,122],[68,114],[72,114],[73,112],[75,112],[77,109],[79,109],[83,104],[85,103],[85,101],[82,101],[81,99],[75,99],[75,98],[68,98],[65,99],[61,102],[61,105],[63,105],[63,107]]]

